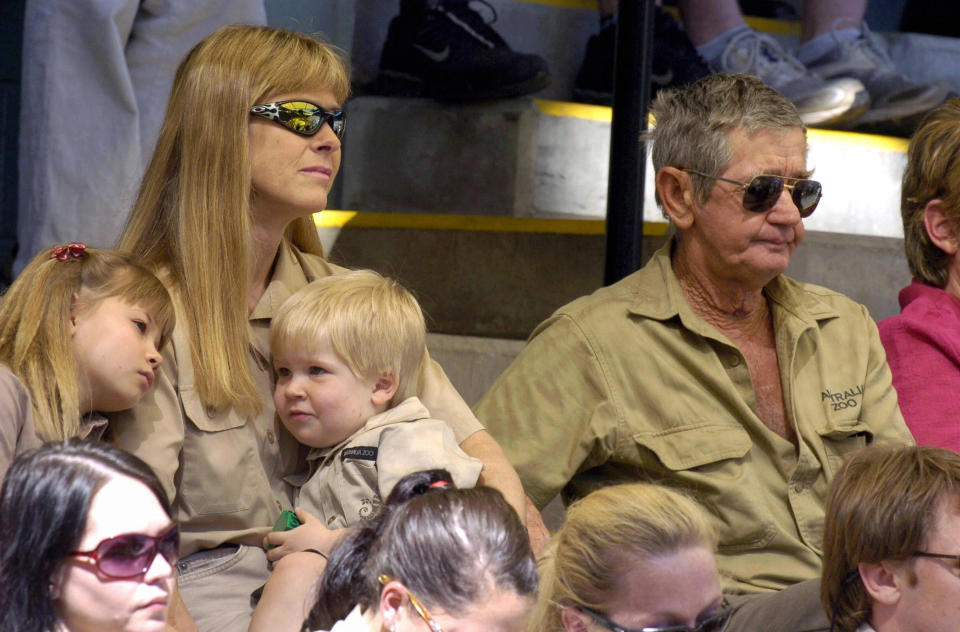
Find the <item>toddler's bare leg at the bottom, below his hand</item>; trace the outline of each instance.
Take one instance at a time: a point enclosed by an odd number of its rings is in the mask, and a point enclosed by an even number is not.
[[[249,632],[299,632],[310,612],[327,560],[316,553],[291,553],[273,565]]]

